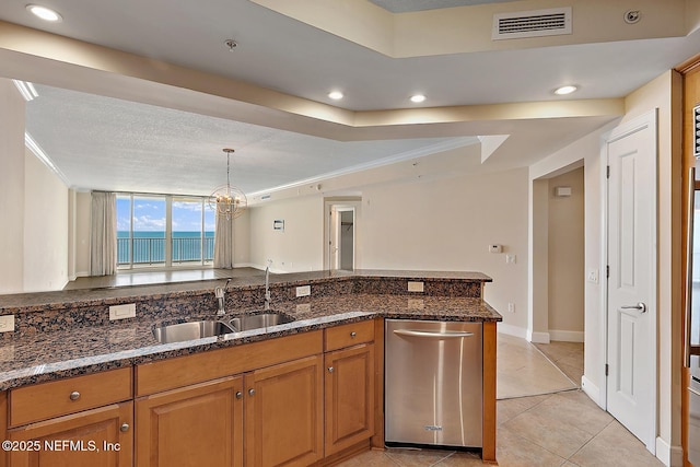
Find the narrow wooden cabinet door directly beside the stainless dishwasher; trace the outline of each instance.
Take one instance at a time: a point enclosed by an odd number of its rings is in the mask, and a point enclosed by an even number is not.
[[[374,345],[326,353],[326,455],[374,434]]]

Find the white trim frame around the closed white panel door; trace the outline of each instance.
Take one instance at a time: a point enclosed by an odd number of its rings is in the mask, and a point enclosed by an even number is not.
[[[654,287],[650,291],[650,306],[648,313],[650,313],[650,322],[652,329],[650,330],[650,336],[653,337],[651,345],[653,345],[653,354],[654,362],[651,365],[651,371],[653,373],[652,381],[652,410],[654,412],[653,419],[653,428],[650,429],[653,431],[653,440],[642,441],[646,450],[655,455],[656,453],[656,437],[658,436],[658,296],[657,296],[657,288],[658,288],[658,109],[654,108],[641,116],[623,122],[618,127],[614,128],[606,135],[602,137],[602,145],[600,145],[600,176],[603,183],[602,185],[602,217],[600,220],[600,229],[602,229],[602,238],[600,242],[600,265],[605,268],[608,266],[608,243],[609,243],[609,179],[607,175],[607,167],[609,165],[608,157],[608,144],[615,142],[621,138],[625,138],[629,135],[632,135],[637,131],[643,130],[645,127],[651,127],[653,131],[653,141],[655,148],[655,156],[654,156],[654,194],[653,197],[653,212],[654,212],[654,229],[652,230],[652,244],[654,245],[654,252],[652,255],[652,266],[650,267],[651,282]],[[603,271],[600,273],[603,276]],[[609,345],[609,329],[608,329],[608,280],[607,275],[605,277],[605,287],[602,288],[600,291],[600,325],[603,330],[603,336],[605,339],[603,340],[603,352],[602,354],[605,357],[604,364],[600,367],[599,377],[602,382],[604,382],[605,387],[599,392],[599,405],[606,411],[608,410],[608,376],[606,374],[606,366],[609,364],[608,361],[608,345]],[[641,441],[641,440],[640,440]],[[650,443],[650,444],[648,444]]]

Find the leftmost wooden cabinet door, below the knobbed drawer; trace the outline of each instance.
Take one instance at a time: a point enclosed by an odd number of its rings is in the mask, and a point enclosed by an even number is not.
[[[8,431],[12,467],[130,467],[133,402],[113,404]]]

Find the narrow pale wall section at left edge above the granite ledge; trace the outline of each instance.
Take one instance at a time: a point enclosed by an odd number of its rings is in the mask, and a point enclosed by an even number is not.
[[[0,79],[0,293],[24,289],[24,100]]]

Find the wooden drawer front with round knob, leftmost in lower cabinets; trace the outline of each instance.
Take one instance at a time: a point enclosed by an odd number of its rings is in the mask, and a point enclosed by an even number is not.
[[[128,367],[11,389],[10,427],[120,402],[132,387]]]

